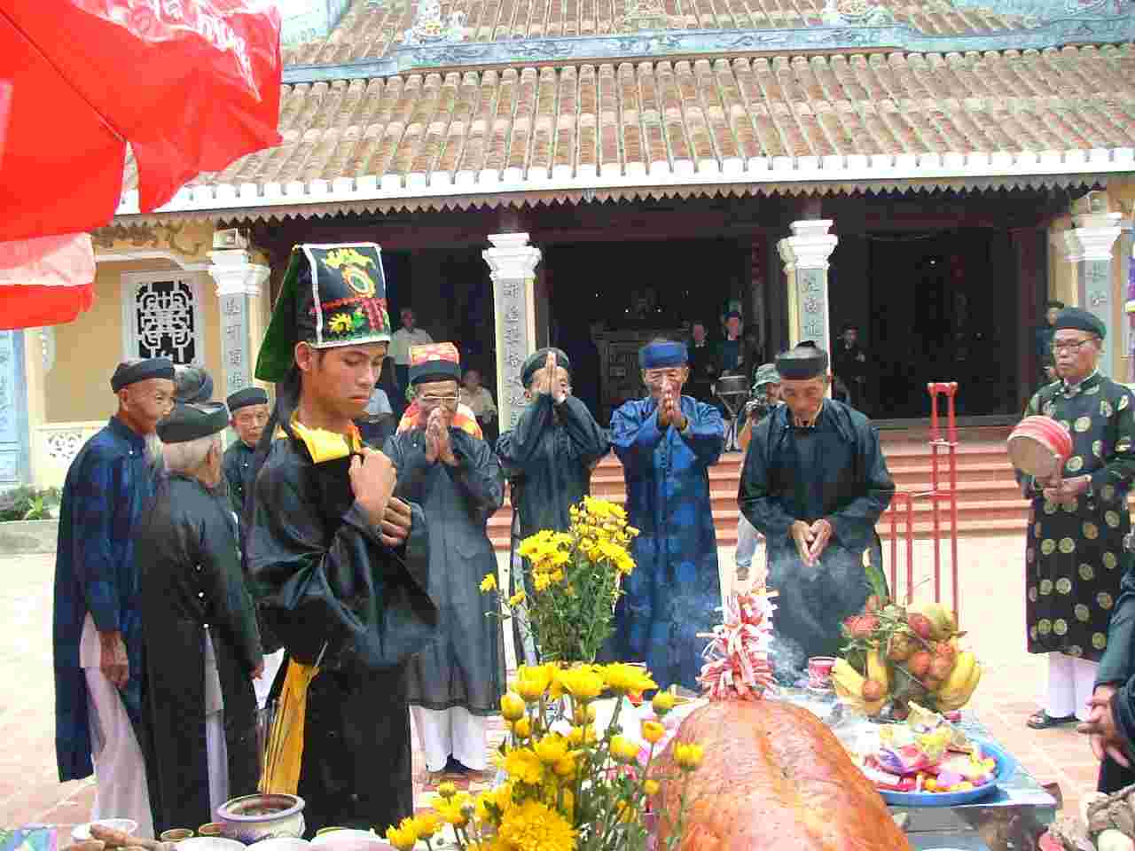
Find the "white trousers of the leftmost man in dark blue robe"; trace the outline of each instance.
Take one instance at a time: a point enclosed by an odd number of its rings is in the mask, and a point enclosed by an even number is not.
[[[96,787],[91,818],[129,818],[136,835],[153,839],[150,786],[134,726],[118,689],[99,668],[84,668],[86,708],[91,719],[91,756]],[[132,672],[133,675],[133,672]]]

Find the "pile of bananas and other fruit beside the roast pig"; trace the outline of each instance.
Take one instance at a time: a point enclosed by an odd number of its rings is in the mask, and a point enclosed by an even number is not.
[[[889,710],[903,721],[910,703],[943,713],[965,706],[982,679],[976,657],[962,650],[952,612],[936,604],[902,606],[868,573],[875,593],[863,613],[843,622],[843,658],[832,668],[835,692],[866,715]]]

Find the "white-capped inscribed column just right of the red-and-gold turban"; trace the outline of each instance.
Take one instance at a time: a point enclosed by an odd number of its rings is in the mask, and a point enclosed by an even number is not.
[[[540,250],[528,234],[493,234],[482,252],[493,276],[496,318],[497,406],[501,430],[511,429],[524,410],[520,368],[536,351],[536,267]]]

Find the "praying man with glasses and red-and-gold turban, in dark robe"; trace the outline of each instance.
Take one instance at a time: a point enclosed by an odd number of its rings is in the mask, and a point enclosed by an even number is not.
[[[484,440],[454,424],[457,347],[410,347],[414,428],[386,441],[398,469],[395,494],[421,505],[429,523],[430,597],[442,633],[406,665],[410,713],[432,781],[446,772],[484,772],[486,719],[501,713],[504,641],[495,599],[478,585],[496,575],[488,519],[504,503],[504,475]]]

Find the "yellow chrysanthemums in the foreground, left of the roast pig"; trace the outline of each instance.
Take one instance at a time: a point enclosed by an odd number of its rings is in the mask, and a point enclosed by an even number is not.
[[[443,783],[432,810],[390,827],[387,841],[400,851],[419,843],[438,848],[443,825],[451,825],[464,851],[645,851],[648,799],[679,784],[678,812],[656,814],[672,817],[665,821],[671,839],[661,848],[674,848],[683,833],[683,790],[701,761],[701,748],[675,744],[670,761],[676,768],[667,773],[655,758],[664,733],[657,721],[641,722],[649,743],[645,758],[623,735],[621,701],[605,730],[594,723],[594,703],[603,691],[625,696],[653,689],[657,684],[634,665],[521,666],[501,699],[508,726],[497,756],[504,783],[476,798]],[[658,692],[651,708],[665,716],[673,696]]]

